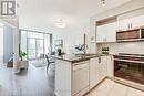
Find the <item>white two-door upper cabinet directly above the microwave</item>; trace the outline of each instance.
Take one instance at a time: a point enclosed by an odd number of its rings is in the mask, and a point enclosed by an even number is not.
[[[117,31],[136,29],[144,25],[144,9],[117,15]]]

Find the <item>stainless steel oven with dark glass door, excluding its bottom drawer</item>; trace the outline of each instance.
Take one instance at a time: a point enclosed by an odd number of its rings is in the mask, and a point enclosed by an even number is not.
[[[114,55],[114,76],[144,84],[144,55]]]

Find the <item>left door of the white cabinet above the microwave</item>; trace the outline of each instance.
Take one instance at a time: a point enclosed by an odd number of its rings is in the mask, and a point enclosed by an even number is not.
[[[117,21],[117,31],[124,31],[124,30],[128,30],[128,29],[130,29],[128,19]]]

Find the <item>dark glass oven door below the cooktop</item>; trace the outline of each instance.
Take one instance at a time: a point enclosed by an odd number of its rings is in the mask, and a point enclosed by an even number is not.
[[[114,60],[114,76],[144,84],[144,64]]]

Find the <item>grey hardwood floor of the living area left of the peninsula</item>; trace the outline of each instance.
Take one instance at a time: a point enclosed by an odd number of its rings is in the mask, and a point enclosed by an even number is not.
[[[0,96],[55,96],[54,65],[48,73],[45,67],[30,65],[17,75],[12,68],[0,66]]]

